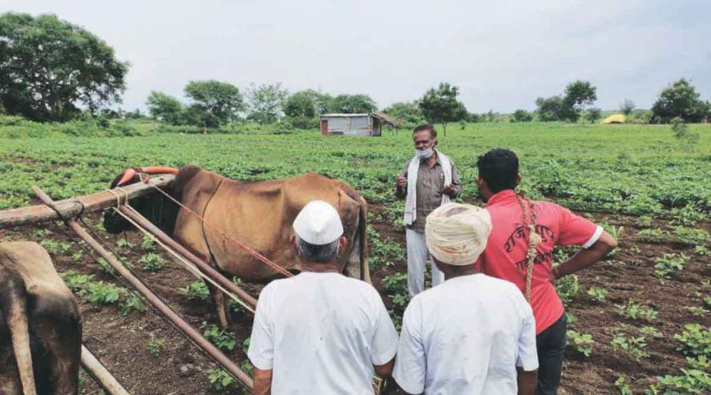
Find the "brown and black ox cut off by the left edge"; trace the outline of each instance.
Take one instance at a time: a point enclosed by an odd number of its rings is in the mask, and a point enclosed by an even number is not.
[[[0,394],[77,394],[81,347],[77,301],[47,251],[0,243]]]

